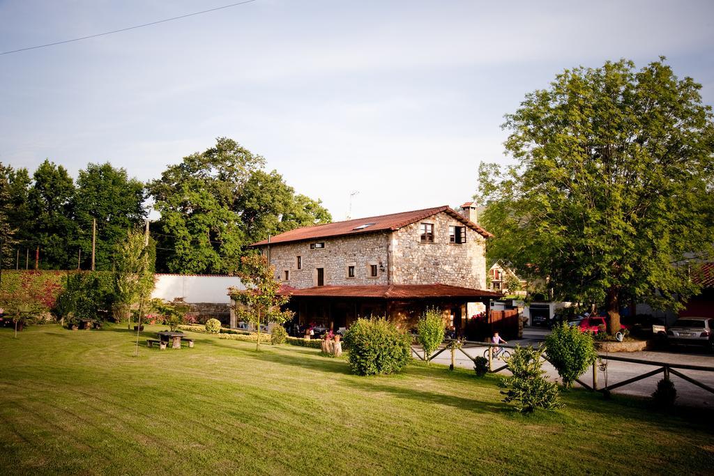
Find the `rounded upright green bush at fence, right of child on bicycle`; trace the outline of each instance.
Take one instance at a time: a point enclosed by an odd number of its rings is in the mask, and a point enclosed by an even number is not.
[[[565,322],[556,325],[545,338],[545,348],[548,361],[558,370],[566,388],[573,385],[575,379],[583,375],[598,358],[592,335],[571,328]]]

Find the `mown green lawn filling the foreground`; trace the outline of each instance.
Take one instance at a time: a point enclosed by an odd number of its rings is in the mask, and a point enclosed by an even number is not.
[[[149,326],[151,330],[161,329]],[[0,330],[0,474],[710,473],[714,425],[573,390],[519,415],[498,377],[362,378],[318,350],[123,328]]]

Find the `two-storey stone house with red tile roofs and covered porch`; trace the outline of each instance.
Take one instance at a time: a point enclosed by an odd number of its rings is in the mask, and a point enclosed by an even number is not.
[[[471,205],[471,204],[465,204]],[[253,243],[276,269],[296,322],[343,328],[386,315],[411,328],[428,307],[457,329],[500,293],[486,290],[491,233],[448,206],[308,226]]]

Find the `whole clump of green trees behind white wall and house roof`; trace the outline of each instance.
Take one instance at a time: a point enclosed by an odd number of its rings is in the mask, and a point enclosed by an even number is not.
[[[298,226],[326,223],[319,201],[296,195],[265,159],[236,141],[193,153],[149,183],[161,220],[157,268],[172,273],[233,273],[246,245]]]

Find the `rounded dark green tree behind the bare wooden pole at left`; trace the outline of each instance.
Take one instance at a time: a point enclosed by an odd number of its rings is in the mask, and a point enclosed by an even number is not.
[[[124,168],[90,163],[79,171],[72,204],[79,228],[76,246],[85,256],[85,268],[91,265],[92,220],[96,219],[96,269],[112,270],[116,246],[146,218],[145,198],[144,184],[129,178]],[[77,253],[76,246],[73,253]]]

